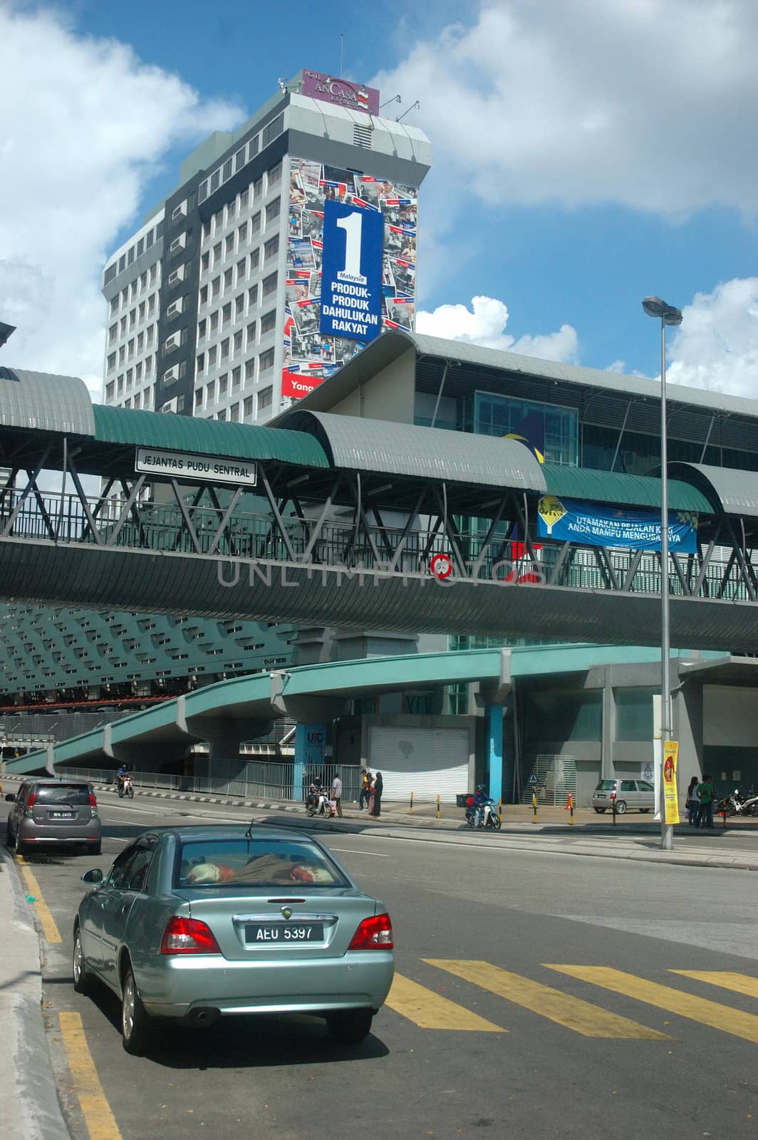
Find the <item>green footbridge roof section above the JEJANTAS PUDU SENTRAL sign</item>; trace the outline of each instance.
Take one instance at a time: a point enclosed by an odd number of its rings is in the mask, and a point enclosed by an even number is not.
[[[103,404],[92,405],[92,412],[95,439],[100,443],[160,447],[236,459],[278,459],[308,467],[329,466],[321,445],[304,432],[109,408]]]

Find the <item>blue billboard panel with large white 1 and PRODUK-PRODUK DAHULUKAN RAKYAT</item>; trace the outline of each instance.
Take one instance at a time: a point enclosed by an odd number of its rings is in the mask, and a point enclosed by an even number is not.
[[[319,332],[368,343],[382,331],[384,219],[377,210],[324,203]]]

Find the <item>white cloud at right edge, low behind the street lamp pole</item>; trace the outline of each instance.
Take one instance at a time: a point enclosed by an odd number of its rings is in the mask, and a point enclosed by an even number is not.
[[[758,399],[758,277],[698,293],[682,316],[667,381]]]

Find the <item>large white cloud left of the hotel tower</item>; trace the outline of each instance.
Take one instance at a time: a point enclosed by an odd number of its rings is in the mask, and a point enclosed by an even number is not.
[[[2,360],[82,376],[99,398],[105,259],[169,148],[242,112],[59,13],[1,3],[0,105],[0,320],[18,326]]]

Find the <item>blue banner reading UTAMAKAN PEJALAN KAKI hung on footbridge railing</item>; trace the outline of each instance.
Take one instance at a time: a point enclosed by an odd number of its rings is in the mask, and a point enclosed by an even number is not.
[[[634,551],[660,551],[660,511],[630,511],[595,506],[546,495],[537,506],[540,538],[579,543],[584,546],[623,546]],[[673,554],[698,553],[698,515],[669,511],[669,549]]]

